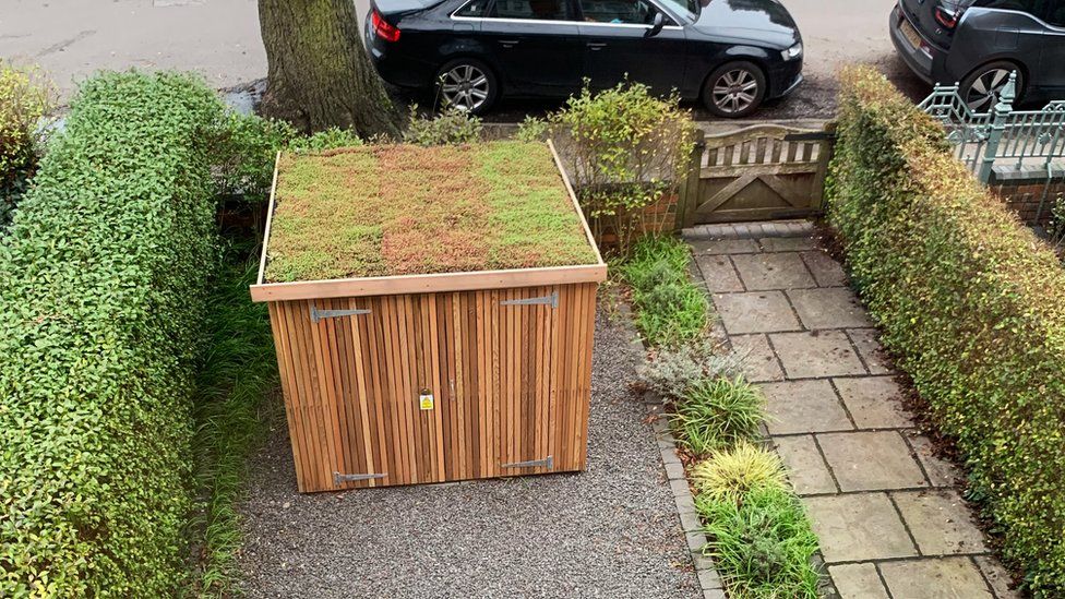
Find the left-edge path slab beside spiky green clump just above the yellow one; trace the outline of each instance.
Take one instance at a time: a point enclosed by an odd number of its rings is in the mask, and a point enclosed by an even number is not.
[[[854,429],[831,384],[823,379],[762,385],[769,434],[850,431]]]

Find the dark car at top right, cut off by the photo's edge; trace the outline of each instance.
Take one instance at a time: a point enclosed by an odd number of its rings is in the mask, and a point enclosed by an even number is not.
[[[986,112],[1017,71],[1028,101],[1065,98],[1065,0],[900,0],[892,40],[929,83],[960,83]]]

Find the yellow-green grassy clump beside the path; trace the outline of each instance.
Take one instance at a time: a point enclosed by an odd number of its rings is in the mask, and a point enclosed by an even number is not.
[[[777,454],[744,441],[714,452],[695,465],[691,475],[698,496],[715,502],[737,503],[752,489],[787,489],[788,484]]]

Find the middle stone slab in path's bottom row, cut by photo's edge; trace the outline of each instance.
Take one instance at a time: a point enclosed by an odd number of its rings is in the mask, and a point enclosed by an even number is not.
[[[906,560],[881,564],[895,597],[906,599],[980,599],[993,597],[980,570],[968,558]]]

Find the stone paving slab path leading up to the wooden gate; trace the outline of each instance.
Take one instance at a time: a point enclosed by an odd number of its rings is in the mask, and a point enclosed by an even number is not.
[[[807,221],[685,231],[843,599],[1019,597]]]

